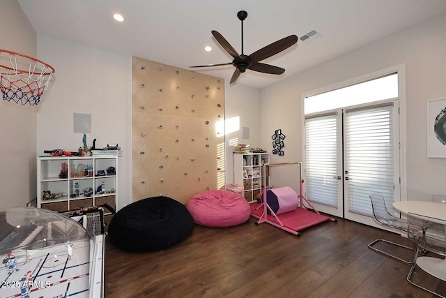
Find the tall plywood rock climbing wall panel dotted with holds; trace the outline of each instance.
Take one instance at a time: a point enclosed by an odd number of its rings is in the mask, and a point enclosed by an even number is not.
[[[133,201],[224,186],[224,80],[132,57]]]

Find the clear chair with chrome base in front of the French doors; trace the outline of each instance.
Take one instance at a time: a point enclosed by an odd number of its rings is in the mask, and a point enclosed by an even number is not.
[[[397,230],[407,232],[408,221],[406,221],[403,218],[399,218],[397,216],[390,214],[390,212],[388,211],[387,206],[385,204],[385,199],[384,199],[383,193],[380,193],[380,192],[372,193],[371,195],[369,195],[369,197],[371,200],[371,209],[373,210],[375,221],[377,221],[381,225],[385,225],[386,227],[394,228]],[[393,245],[399,246],[401,248],[410,249],[410,251],[413,251],[413,248],[404,246],[402,244],[399,244],[399,243],[396,243],[393,241],[385,240],[385,239],[376,239],[369,244],[369,248],[373,251],[376,251],[377,253],[382,253],[383,255],[387,255],[387,256],[394,258],[396,260],[399,260],[407,265],[412,264],[413,259],[404,260],[402,258],[399,258],[397,255],[392,255],[390,253],[387,253],[385,251],[382,251],[382,250],[376,248],[375,244],[377,244],[379,242],[384,242],[386,244],[393,244]]]

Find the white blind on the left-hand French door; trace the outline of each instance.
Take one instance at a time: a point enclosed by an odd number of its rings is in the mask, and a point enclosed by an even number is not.
[[[337,207],[337,115],[305,119],[305,191],[309,201]]]

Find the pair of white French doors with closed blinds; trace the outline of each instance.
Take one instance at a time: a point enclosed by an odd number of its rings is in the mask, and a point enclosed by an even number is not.
[[[375,225],[369,195],[399,200],[398,101],[305,119],[305,197],[318,211]]]

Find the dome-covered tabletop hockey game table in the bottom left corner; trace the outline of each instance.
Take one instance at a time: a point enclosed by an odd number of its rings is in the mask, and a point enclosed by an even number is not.
[[[0,212],[0,297],[103,297],[103,237],[55,211]]]

